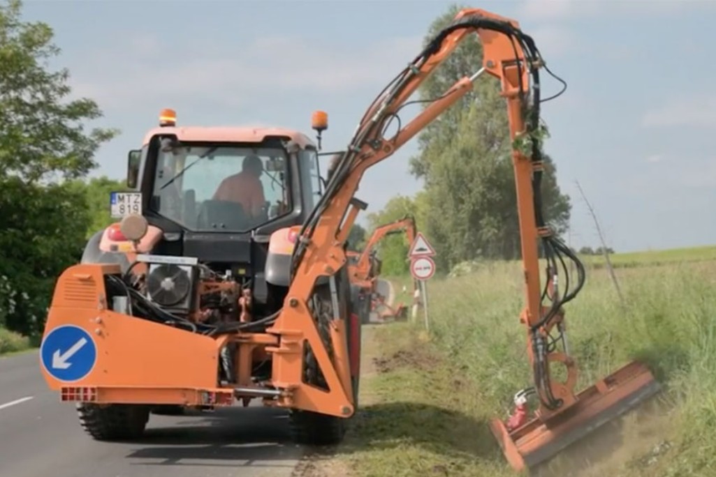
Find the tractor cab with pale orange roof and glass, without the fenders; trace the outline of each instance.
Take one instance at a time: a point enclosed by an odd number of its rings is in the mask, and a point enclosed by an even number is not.
[[[142,148],[130,151],[127,186],[135,202],[141,197],[142,215],[164,230],[261,236],[302,223],[321,177],[316,145],[301,132],[178,127],[165,109]]]

